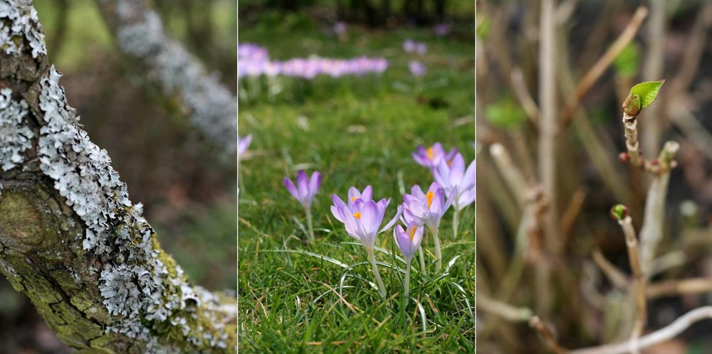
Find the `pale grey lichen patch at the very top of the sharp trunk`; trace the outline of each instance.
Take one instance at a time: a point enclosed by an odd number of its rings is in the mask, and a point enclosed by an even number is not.
[[[47,54],[44,33],[39,31],[37,11],[29,0],[0,0],[0,48],[16,55],[28,45],[32,58]]]

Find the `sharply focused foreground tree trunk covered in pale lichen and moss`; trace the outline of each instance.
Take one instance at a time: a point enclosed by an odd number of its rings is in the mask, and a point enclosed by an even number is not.
[[[78,353],[234,353],[236,299],[187,281],[81,129],[28,0],[0,0],[0,272]]]

